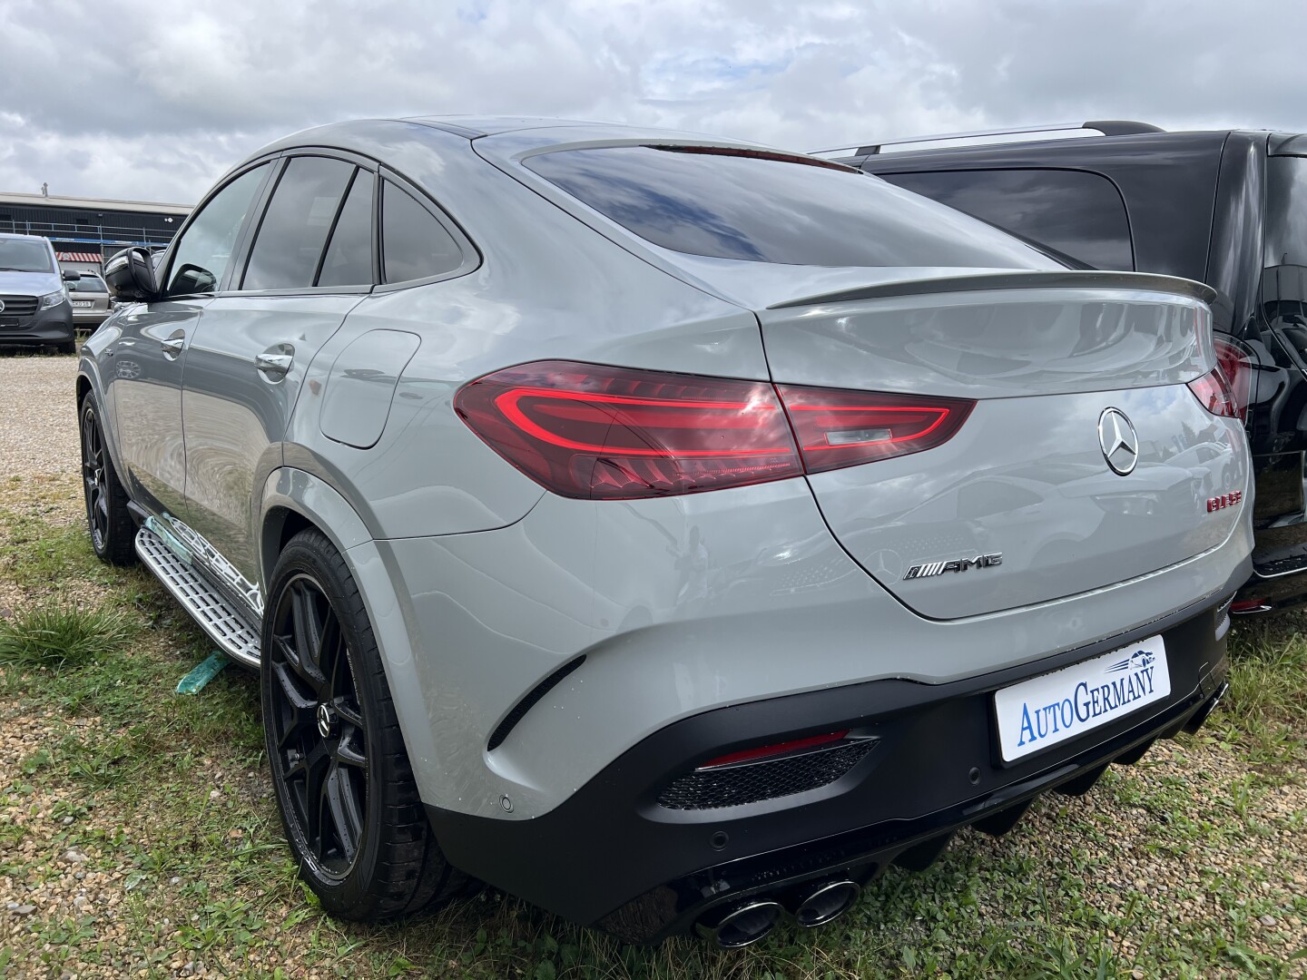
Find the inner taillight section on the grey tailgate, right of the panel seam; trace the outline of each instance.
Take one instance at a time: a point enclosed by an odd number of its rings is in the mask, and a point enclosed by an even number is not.
[[[948,442],[974,401],[778,387],[809,473],[904,456]]]

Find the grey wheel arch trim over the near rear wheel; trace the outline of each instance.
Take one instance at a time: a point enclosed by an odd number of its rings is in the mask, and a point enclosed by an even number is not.
[[[264,482],[259,527],[259,579],[269,606],[268,588],[277,557],[301,531],[320,531],[345,559],[376,638],[418,793],[423,801],[437,798],[433,780],[438,755],[404,615],[408,604],[396,592],[363,519],[327,481],[302,469],[282,466],[269,473]]]

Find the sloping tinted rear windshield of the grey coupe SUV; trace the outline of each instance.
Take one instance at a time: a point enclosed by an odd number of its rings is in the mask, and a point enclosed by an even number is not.
[[[525,166],[664,248],[779,265],[1060,268],[951,208],[823,161],[706,146],[605,146]]]

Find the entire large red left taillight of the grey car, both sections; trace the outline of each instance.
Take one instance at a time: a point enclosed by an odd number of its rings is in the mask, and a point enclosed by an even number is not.
[[[701,493],[919,452],[972,405],[566,361],[497,371],[454,400],[495,452],[582,499]]]

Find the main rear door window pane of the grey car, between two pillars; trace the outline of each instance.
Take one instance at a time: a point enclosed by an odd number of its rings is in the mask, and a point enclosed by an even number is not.
[[[353,163],[328,157],[295,157],[286,165],[259,225],[240,289],[314,285],[353,172]]]

